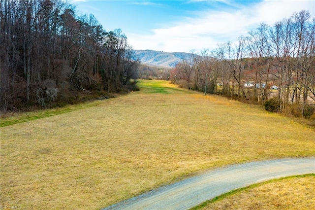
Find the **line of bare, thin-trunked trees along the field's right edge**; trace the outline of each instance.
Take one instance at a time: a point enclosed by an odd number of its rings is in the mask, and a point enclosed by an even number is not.
[[[273,26],[261,23],[236,43],[192,52],[170,79],[182,86],[264,104],[277,86],[279,108],[315,101],[315,18],[293,13]],[[275,87],[276,88],[276,87]]]

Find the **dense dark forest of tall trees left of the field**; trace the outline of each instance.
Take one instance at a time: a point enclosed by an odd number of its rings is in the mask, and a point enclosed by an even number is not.
[[[0,17],[2,111],[132,88],[139,62],[126,35],[94,15],[77,16],[64,0],[1,0]]]

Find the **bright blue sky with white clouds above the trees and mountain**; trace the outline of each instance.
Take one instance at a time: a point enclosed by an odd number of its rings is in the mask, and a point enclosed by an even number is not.
[[[293,12],[315,17],[315,0],[70,0],[76,14],[94,14],[106,31],[121,29],[136,50],[200,52],[235,42],[260,23]]]

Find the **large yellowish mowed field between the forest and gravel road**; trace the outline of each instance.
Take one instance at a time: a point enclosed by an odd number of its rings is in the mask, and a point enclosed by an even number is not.
[[[140,89],[1,127],[0,205],[101,209],[215,167],[315,156],[314,129],[261,107],[167,81]]]

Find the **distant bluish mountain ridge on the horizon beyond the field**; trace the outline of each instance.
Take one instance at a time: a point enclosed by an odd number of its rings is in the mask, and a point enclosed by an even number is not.
[[[190,53],[185,52],[167,53],[155,50],[135,50],[135,54],[142,64],[168,68],[175,67],[176,64],[188,60],[191,56]]]

